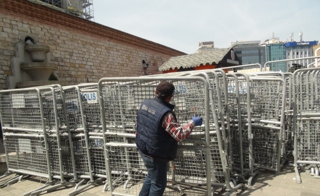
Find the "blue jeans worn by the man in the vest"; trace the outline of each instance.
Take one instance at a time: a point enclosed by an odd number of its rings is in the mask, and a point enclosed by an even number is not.
[[[146,176],[139,196],[162,196],[167,184],[168,162],[155,161],[140,151],[141,158],[147,168]]]

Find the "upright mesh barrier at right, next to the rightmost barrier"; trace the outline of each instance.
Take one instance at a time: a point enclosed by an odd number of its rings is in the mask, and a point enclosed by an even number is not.
[[[280,78],[260,76],[249,79],[250,94],[254,95],[250,100],[254,165],[278,173],[282,167],[286,84]]]

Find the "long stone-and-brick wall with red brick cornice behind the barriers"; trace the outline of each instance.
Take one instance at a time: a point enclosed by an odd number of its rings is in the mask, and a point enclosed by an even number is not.
[[[30,35],[50,46],[54,74],[68,84],[102,77],[158,74],[172,56],[185,53],[28,0],[0,0],[0,89],[12,75],[10,59],[17,42]],[[142,68],[142,60],[149,68]]]

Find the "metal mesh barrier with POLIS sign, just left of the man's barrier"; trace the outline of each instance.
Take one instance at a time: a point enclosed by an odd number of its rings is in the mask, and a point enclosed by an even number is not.
[[[93,160],[96,159],[96,156],[93,156],[90,150],[95,149],[95,145],[92,141],[90,142],[87,129],[87,126],[90,126],[87,120],[91,119],[90,113],[87,112],[88,108],[90,108],[88,104],[96,103],[95,105],[97,105],[97,87],[97,84],[80,84],[63,88],[70,132],[73,133],[72,146],[76,159],[75,170],[77,177],[81,178],[75,190],[68,193],[68,196],[76,195],[93,184],[102,183],[103,181],[102,178],[94,176],[94,168],[97,163]],[[86,105],[86,108],[83,105]],[[100,146],[102,147],[102,145]],[[106,178],[106,175],[104,175],[104,178]],[[81,186],[86,180],[88,182]]]

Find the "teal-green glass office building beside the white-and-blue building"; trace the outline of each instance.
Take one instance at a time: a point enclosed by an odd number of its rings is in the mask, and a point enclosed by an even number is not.
[[[286,59],[286,45],[285,43],[267,44],[266,45],[267,61],[277,61]],[[287,62],[276,62],[267,64],[269,71],[287,72]]]

